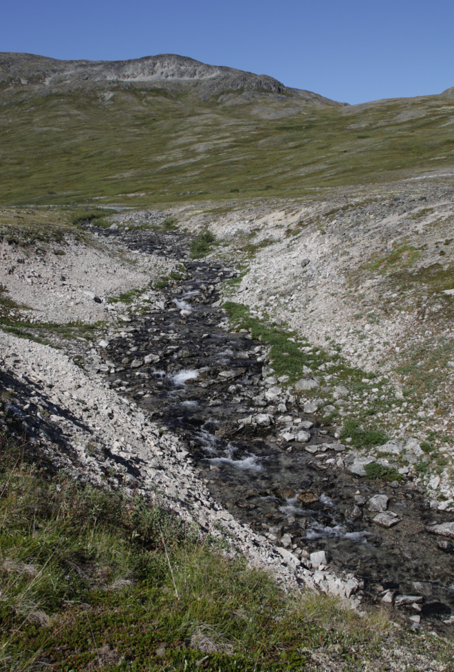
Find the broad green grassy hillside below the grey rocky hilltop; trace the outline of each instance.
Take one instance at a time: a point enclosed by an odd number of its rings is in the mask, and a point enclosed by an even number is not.
[[[166,205],[389,181],[454,164],[454,98],[354,107],[241,89],[0,93],[0,201]],[[128,196],[127,196],[128,194]],[[131,195],[133,194],[133,195]]]

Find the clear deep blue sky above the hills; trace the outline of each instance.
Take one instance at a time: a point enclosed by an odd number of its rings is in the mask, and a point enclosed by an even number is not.
[[[3,0],[0,50],[181,54],[349,103],[454,87],[453,0]]]

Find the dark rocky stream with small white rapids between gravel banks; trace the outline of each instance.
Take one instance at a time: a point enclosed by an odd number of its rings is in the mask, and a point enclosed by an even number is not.
[[[291,391],[284,413],[275,405],[255,406],[252,399],[279,385],[262,359],[266,348],[248,333],[230,332],[226,311],[213,306],[219,302],[217,284],[237,271],[213,260],[191,260],[184,234],[87,228],[186,267],[186,279],[159,291],[161,307],[155,302],[150,313],[125,324],[104,351],[115,370],[106,372],[111,387],[184,439],[211,495],[241,522],[277,544],[290,535],[288,548],[296,552],[326,550],[335,572],[354,572],[364,581],[365,602],[380,602],[385,590],[423,595],[422,623],[443,627],[454,614],[454,555],[452,544],[445,540],[442,548],[426,525],[447,522],[452,513],[431,509],[411,479],[393,488],[337,467],[333,451],[314,457],[306,448],[336,443],[335,429],[304,414]],[[153,361],[131,368],[134,359],[147,355]],[[257,413],[270,414],[272,424],[238,423]],[[283,416],[287,423],[299,419],[310,441],[286,443],[280,436]],[[352,517],[356,494],[368,500],[377,493],[389,497],[398,525],[378,526],[367,506]],[[422,585],[415,587],[415,581]]]

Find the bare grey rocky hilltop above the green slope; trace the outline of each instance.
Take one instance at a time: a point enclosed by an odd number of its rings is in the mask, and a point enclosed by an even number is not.
[[[0,52],[0,85],[46,89],[92,88],[102,85],[140,84],[141,87],[197,87],[202,98],[226,91],[255,91],[301,102],[329,106],[346,105],[312,91],[285,87],[268,75],[207,65],[177,54],[158,54],[130,60],[58,60],[34,54]],[[43,91],[44,93],[44,91]]]

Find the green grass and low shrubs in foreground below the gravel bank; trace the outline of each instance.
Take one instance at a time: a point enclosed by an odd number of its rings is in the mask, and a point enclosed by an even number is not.
[[[285,595],[169,509],[51,477],[1,443],[0,669],[284,671],[312,651],[378,656],[385,614]]]

